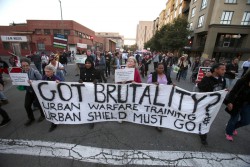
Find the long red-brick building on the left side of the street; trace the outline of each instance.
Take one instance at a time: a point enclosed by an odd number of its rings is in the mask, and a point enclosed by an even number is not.
[[[72,20],[27,20],[23,24],[0,26],[0,55],[12,52],[24,56],[33,51],[57,52],[64,49],[75,53],[103,50],[104,38]],[[62,39],[60,39],[62,37]],[[60,43],[60,41],[63,41]]]

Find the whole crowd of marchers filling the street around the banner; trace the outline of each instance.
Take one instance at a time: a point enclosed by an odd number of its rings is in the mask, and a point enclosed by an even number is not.
[[[81,53],[76,53],[81,54]],[[242,78],[239,79],[235,86],[233,82],[239,77],[239,59],[234,58],[231,62],[216,62],[215,59],[203,59],[196,57],[193,62],[187,54],[174,55],[174,53],[166,52],[146,52],[146,53],[128,53],[128,52],[92,52],[86,50],[82,53],[86,56],[84,63],[76,64],[76,74],[79,76],[79,82],[108,82],[108,78],[114,77],[115,70],[120,68],[135,68],[134,80],[124,83],[141,83],[141,77],[147,77],[149,84],[173,84],[172,78],[176,82],[183,80],[188,82],[188,70],[192,72],[190,81],[195,83],[200,92],[212,92],[227,88],[228,96],[225,99],[226,111],[230,113],[230,120],[226,127],[226,139],[233,141],[232,135],[237,135],[237,128],[248,125],[250,123],[249,99],[250,99],[250,59],[242,64]],[[65,81],[65,75],[68,62],[75,60],[74,52],[66,51],[56,54],[46,55],[44,52],[37,54],[34,52],[30,57],[34,62],[36,69],[30,66],[28,58],[21,59],[22,71],[28,74],[30,80],[49,80],[61,82]],[[12,62],[11,62],[12,61]],[[1,61],[0,61],[1,62]],[[4,63],[3,63],[4,64]],[[10,64],[16,66],[15,59],[10,59]],[[153,71],[149,71],[149,65],[154,66]],[[4,68],[7,66],[4,65]],[[204,78],[198,82],[196,80],[200,67],[211,68]],[[1,78],[1,77],[0,77]],[[114,81],[114,80],[113,80]],[[3,83],[1,83],[3,85]],[[244,89],[243,89],[243,88]],[[230,91],[232,89],[232,91]],[[37,97],[31,86],[26,86],[25,109],[28,120],[26,126],[34,123],[35,118],[32,111],[32,104],[37,101]],[[1,89],[0,89],[1,92]],[[243,93],[244,92],[244,93]],[[236,96],[236,95],[237,96]],[[244,100],[248,99],[248,100]],[[2,100],[2,99],[1,99]],[[238,102],[237,102],[238,101]],[[38,103],[41,116],[38,121],[44,120],[44,114]],[[10,122],[7,112],[0,106],[0,114],[3,117],[0,126],[5,126]],[[57,125],[51,124],[49,131],[55,130]],[[94,124],[90,124],[90,128],[94,128]],[[157,127],[158,131],[162,131]],[[200,134],[201,143],[207,145],[207,134]]]

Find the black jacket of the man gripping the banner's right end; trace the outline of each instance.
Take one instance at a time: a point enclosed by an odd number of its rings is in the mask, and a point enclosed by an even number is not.
[[[198,88],[200,92],[214,92],[218,90],[223,90],[226,88],[226,80],[224,77],[219,77],[218,79],[211,76],[205,76],[201,82],[198,83]]]

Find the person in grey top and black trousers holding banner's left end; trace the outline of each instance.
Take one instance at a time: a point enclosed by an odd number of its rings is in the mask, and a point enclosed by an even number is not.
[[[27,58],[21,59],[21,67],[24,73],[28,74],[29,77],[29,84],[32,83],[32,80],[41,80],[42,76],[39,73],[39,71],[33,69],[30,66],[30,60]],[[34,114],[31,109],[32,103],[37,100],[37,96],[32,88],[32,86],[26,86],[25,87],[26,94],[25,94],[25,101],[24,101],[24,106],[28,115],[29,120],[24,124],[25,126],[30,126],[35,122]],[[42,111],[40,103],[38,103],[38,108],[40,110],[41,116],[38,119],[38,122],[41,122],[44,120],[44,113]]]

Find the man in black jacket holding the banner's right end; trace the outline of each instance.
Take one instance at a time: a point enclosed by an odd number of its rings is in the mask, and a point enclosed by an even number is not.
[[[198,83],[198,88],[200,92],[214,92],[223,90],[226,88],[226,80],[224,74],[226,72],[226,67],[222,63],[214,64],[201,82]],[[209,75],[209,76],[208,76]],[[207,145],[207,134],[200,134],[201,143]]]

